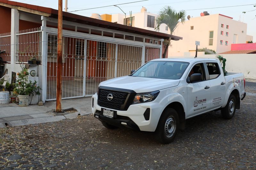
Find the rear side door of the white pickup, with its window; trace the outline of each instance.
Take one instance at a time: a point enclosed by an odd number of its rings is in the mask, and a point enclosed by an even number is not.
[[[222,106],[226,92],[226,80],[221,75],[221,67],[217,62],[206,63],[209,82],[211,85],[211,109]]]

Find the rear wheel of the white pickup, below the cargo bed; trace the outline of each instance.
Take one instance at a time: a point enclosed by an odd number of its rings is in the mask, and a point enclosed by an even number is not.
[[[236,97],[230,94],[228,103],[225,107],[221,108],[221,114],[225,119],[231,119],[236,112]]]

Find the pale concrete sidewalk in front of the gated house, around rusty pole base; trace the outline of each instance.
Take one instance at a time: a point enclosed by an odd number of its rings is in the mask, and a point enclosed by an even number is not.
[[[63,110],[74,108],[77,112],[67,115],[54,115],[53,109],[56,108],[56,101],[45,102],[44,106],[29,105],[28,107],[19,107],[15,103],[0,104],[0,128],[55,122],[92,113],[91,97],[62,100],[61,106]]]

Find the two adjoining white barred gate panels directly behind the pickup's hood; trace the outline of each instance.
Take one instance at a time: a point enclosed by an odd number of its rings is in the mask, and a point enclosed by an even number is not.
[[[87,40],[85,96],[95,94],[100,82],[127,76],[142,63],[142,47]]]

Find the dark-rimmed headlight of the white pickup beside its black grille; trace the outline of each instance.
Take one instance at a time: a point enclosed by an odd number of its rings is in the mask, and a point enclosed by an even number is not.
[[[145,93],[137,93],[133,99],[132,104],[150,102],[156,99],[160,91],[155,92],[145,92]]]

